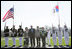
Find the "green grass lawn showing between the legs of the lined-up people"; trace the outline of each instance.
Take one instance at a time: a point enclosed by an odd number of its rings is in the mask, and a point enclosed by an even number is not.
[[[53,44],[53,39],[52,37],[50,38],[50,41],[51,41],[51,45],[54,45]],[[24,40],[22,40],[22,42],[24,42]],[[12,41],[12,38],[9,37],[9,42],[8,42],[9,46],[12,46],[13,45],[13,41]],[[23,43],[22,43],[23,44]],[[4,46],[5,45],[5,39],[4,37],[1,37],[1,46]],[[23,44],[24,45],[24,44]],[[57,45],[59,45],[58,43],[58,38],[57,38]],[[62,45],[66,45],[65,44],[65,40],[64,40],[64,37],[62,37]],[[69,37],[69,45],[71,46],[71,37]],[[16,46],[19,46],[19,37],[16,37]]]

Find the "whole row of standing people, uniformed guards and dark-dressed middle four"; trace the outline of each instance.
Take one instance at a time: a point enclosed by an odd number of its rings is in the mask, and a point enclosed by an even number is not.
[[[15,29],[15,26],[13,26],[11,29],[8,29],[8,26],[6,26],[6,29],[4,30],[4,37],[5,37],[5,47],[8,46],[8,36],[9,36],[9,31],[12,32],[11,37],[13,39],[13,46],[16,46],[16,41],[15,41],[15,37],[18,35],[19,36],[19,44],[21,47],[22,46],[22,37],[24,34],[24,47],[28,47],[29,46],[29,41],[31,44],[31,47],[35,47],[35,39],[37,41],[37,47],[41,46],[41,40],[42,40],[42,47],[46,46],[46,37],[48,38],[49,42],[48,45],[51,46],[50,43],[50,36],[52,33],[52,37],[53,37],[53,43],[54,43],[54,47],[57,47],[56,43],[57,43],[57,39],[56,39],[56,32],[58,34],[58,42],[59,42],[59,46],[62,46],[62,30],[60,25],[58,25],[58,31],[55,30],[55,27],[52,26],[52,30],[47,30],[45,31],[45,28],[42,27],[42,30],[40,30],[39,26],[37,26],[37,29],[34,29],[33,26],[31,26],[30,29],[28,29],[28,27],[25,27],[25,30],[22,29],[22,26],[19,26],[19,29]],[[29,40],[30,39],[30,40]],[[66,25],[64,25],[64,39],[65,39],[65,43],[66,46],[69,46],[69,34],[68,34],[68,28]]]

